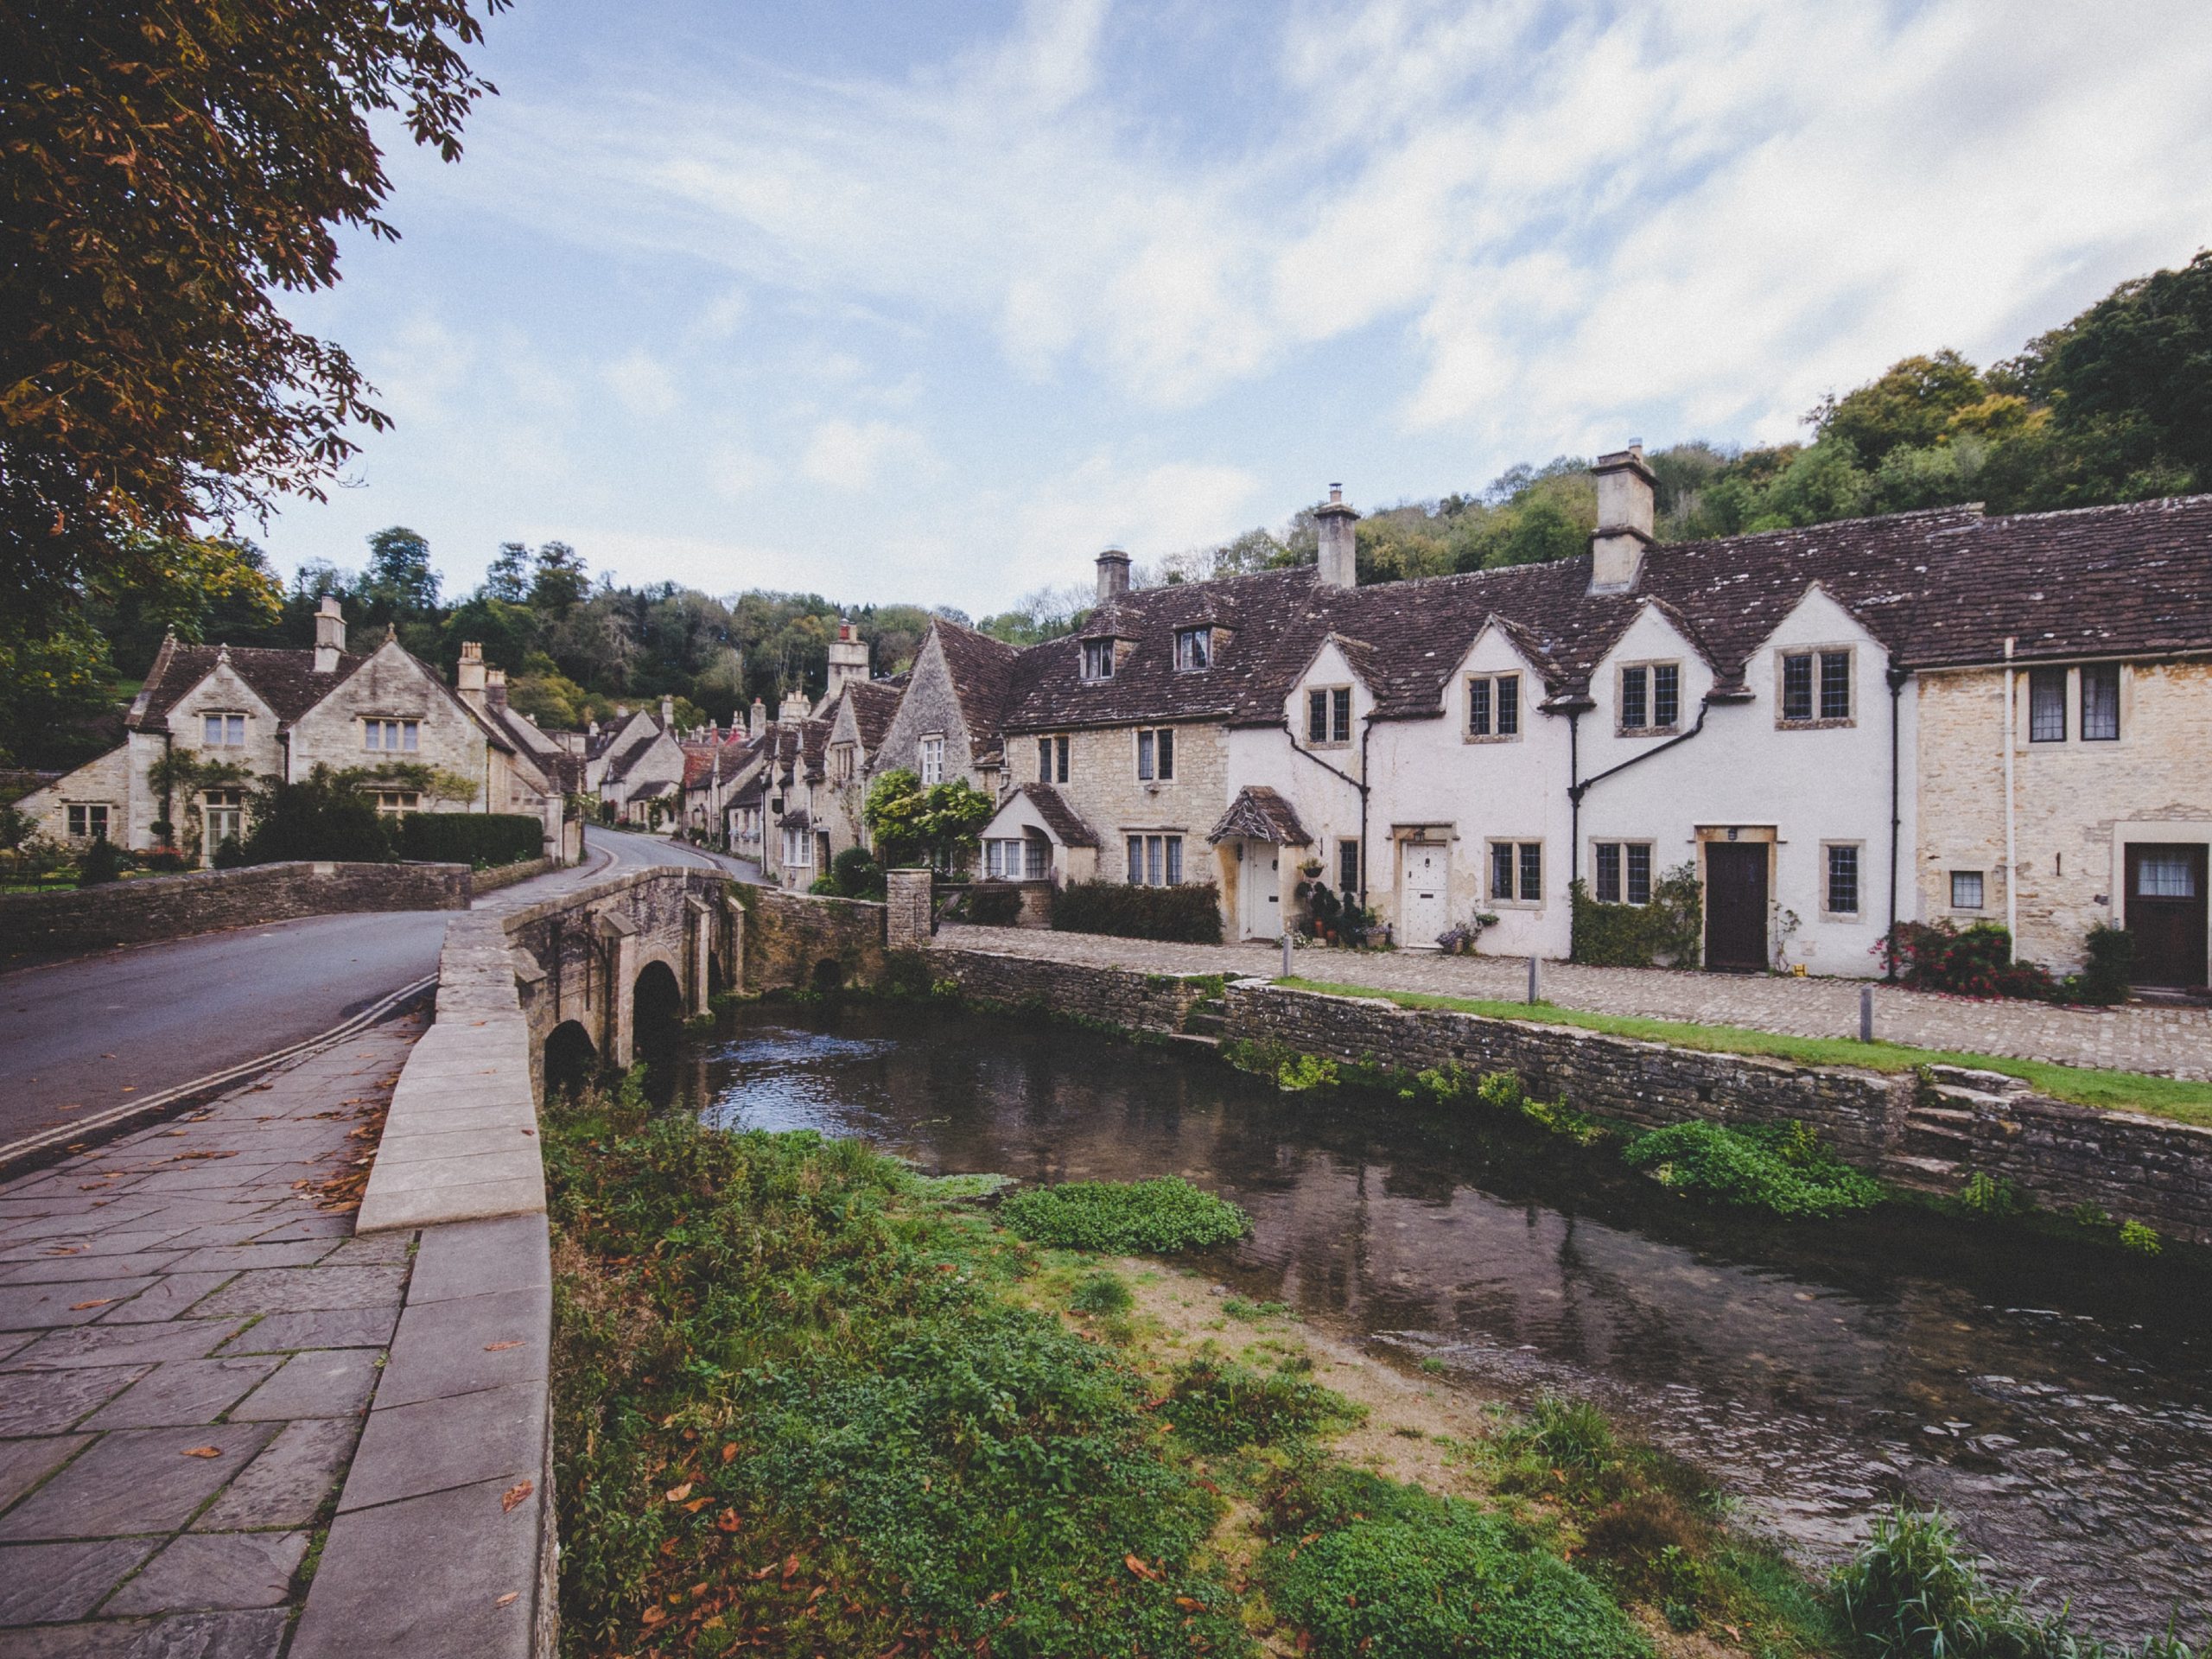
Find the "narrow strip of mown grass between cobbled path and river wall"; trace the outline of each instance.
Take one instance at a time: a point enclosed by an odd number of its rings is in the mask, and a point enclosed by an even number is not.
[[[1803,1066],[1865,1066],[1867,1071],[1913,1071],[1916,1066],[1969,1066],[2020,1077],[2037,1093],[2070,1099],[2101,1110],[2150,1113],[2177,1124],[2212,1128],[2212,1084],[2150,1077],[2139,1071],[2099,1071],[2093,1066],[2055,1066],[2044,1060],[2008,1055],[1975,1055],[1955,1048],[1913,1048],[1902,1042],[1856,1042],[1851,1037],[1792,1037],[1778,1031],[1745,1026],[1701,1026],[1688,1020],[1646,1020],[1628,1013],[1593,1013],[1562,1009],[1551,1002],[1486,1002],[1482,998],[1447,998],[1427,991],[1383,991],[1367,984],[1334,984],[1329,980],[1276,980],[1292,991],[1321,991],[1340,998],[1380,998],[1400,1009],[1447,1009],[1484,1020],[1531,1020],[1548,1026],[1579,1026],[1615,1037],[1666,1042],[1674,1048],[1701,1048],[1723,1055],[1770,1055]]]

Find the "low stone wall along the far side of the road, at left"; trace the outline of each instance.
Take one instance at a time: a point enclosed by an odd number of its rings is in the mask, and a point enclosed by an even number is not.
[[[64,894],[0,896],[0,951],[73,956],[111,945],[365,909],[467,909],[467,865],[250,865],[139,876]]]

